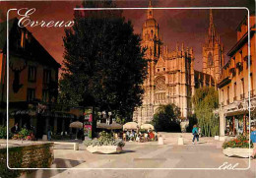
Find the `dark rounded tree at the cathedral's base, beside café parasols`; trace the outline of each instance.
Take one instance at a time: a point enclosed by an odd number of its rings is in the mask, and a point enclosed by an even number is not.
[[[161,105],[152,124],[157,131],[164,132],[180,132],[180,109],[174,104]]]

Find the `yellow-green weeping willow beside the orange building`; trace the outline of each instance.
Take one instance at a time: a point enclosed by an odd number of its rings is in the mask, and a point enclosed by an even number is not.
[[[219,135],[219,116],[214,113],[219,106],[218,91],[209,87],[196,89],[193,103],[202,134],[208,137]]]

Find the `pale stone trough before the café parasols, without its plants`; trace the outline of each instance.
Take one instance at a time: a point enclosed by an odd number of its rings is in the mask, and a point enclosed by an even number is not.
[[[89,146],[87,150],[92,153],[119,153],[122,151],[122,148],[117,146]]]

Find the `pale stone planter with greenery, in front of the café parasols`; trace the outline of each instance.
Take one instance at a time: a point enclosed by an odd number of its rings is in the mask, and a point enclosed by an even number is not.
[[[105,131],[99,133],[99,138],[88,140],[84,145],[92,153],[116,153],[121,152],[124,147],[122,140],[114,140],[111,134]]]

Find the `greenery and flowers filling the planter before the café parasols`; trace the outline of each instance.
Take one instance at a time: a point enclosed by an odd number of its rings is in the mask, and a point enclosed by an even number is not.
[[[108,134],[106,132],[100,132],[99,133],[99,138],[98,139],[94,139],[94,140],[88,140],[88,141],[84,141],[84,145],[86,147],[89,146],[118,146],[120,148],[124,147],[124,143],[122,142],[122,140],[114,140],[114,138],[112,137],[111,134]]]

